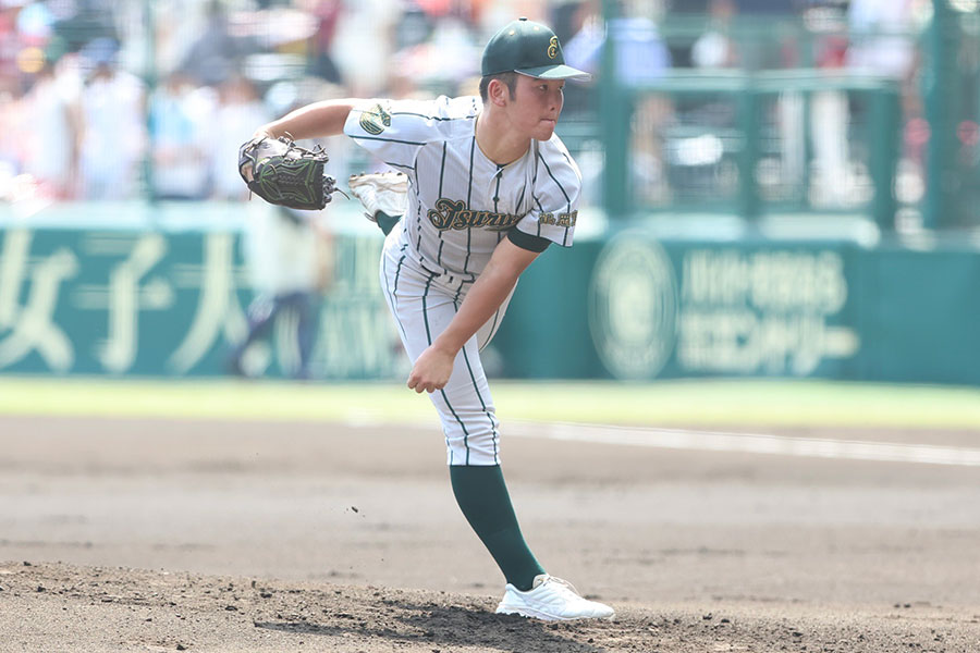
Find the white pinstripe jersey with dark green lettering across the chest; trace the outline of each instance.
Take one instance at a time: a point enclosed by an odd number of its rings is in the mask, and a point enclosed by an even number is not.
[[[476,143],[479,97],[368,100],[344,133],[408,174],[403,237],[430,272],[473,281],[507,231],[572,245],[581,173],[552,135],[501,167]]]

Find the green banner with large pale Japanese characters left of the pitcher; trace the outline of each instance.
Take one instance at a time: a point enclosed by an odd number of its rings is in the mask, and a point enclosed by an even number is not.
[[[224,373],[255,294],[240,241],[236,231],[0,231],[0,372]],[[334,245],[313,373],[391,377],[405,364],[378,288],[381,242]],[[252,373],[289,373],[284,323],[250,353]]]

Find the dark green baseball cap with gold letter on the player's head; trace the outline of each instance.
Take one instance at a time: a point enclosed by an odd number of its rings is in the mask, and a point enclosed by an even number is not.
[[[485,77],[511,71],[538,79],[591,78],[585,71],[565,65],[562,45],[554,32],[527,19],[514,21],[494,34],[483,49]]]

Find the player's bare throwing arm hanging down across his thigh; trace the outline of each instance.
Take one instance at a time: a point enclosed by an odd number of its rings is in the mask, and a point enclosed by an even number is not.
[[[500,242],[490,262],[469,288],[460,311],[415,361],[408,374],[408,387],[418,393],[445,387],[460,349],[500,308],[514,289],[517,278],[539,254],[518,247],[510,238]]]

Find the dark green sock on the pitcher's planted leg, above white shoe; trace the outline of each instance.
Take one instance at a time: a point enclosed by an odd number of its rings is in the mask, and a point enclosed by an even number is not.
[[[450,466],[456,503],[507,582],[526,592],[544,569],[527,547],[500,465]]]

